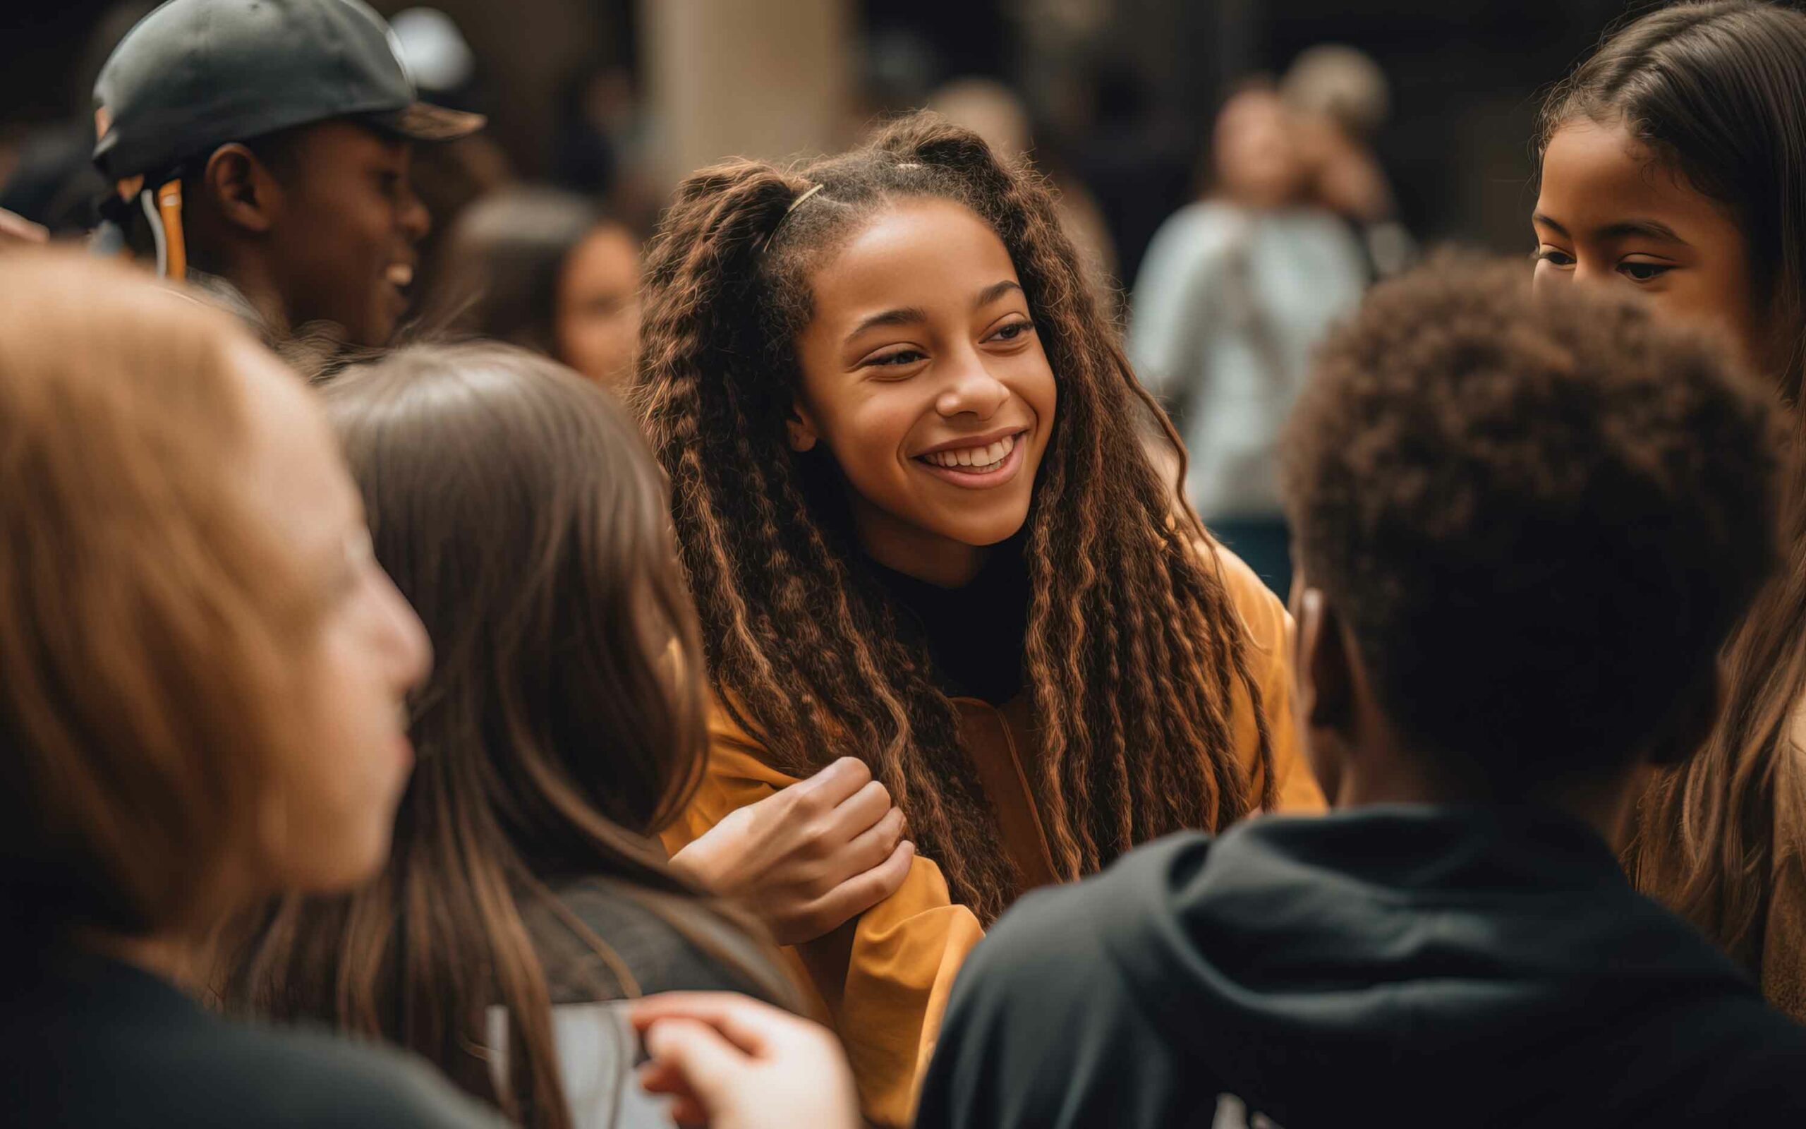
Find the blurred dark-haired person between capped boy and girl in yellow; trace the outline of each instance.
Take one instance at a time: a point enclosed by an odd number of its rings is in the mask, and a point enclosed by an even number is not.
[[[446,238],[426,322],[531,349],[618,388],[639,347],[639,238],[578,195],[488,197]]]

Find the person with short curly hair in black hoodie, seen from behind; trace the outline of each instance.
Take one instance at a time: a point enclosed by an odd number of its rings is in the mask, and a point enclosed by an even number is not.
[[[1521,273],[1376,289],[1289,423],[1336,811],[1019,901],[917,1129],[1802,1124],[1806,1028],[1615,854],[1775,560],[1773,412],[1712,341]]]

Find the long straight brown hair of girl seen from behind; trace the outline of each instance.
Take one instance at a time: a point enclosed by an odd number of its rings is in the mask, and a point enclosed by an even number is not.
[[[607,392],[522,349],[412,347],[325,396],[376,556],[426,623],[435,668],[412,703],[419,760],[383,876],[352,898],[271,910],[228,1003],[385,1037],[518,1122],[563,1127],[524,910],[551,910],[619,961],[558,912],[551,887],[612,878],[755,990],[793,992],[775,963],[751,966],[684,923],[708,912],[757,936],[650,838],[706,755],[665,484]],[[491,1004],[509,1017],[502,1089],[482,1051]]]

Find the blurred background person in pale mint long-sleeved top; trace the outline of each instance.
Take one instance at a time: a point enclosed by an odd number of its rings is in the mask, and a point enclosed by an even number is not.
[[[1284,594],[1279,426],[1311,349],[1360,302],[1367,266],[1340,217],[1313,202],[1315,170],[1277,92],[1230,98],[1212,161],[1210,195],[1174,213],[1141,262],[1129,354],[1185,437],[1197,515]]]

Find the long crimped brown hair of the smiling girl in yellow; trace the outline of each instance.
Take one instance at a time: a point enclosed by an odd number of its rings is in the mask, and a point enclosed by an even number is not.
[[[672,479],[722,706],[784,771],[863,759],[955,900],[990,921],[1019,878],[955,710],[854,565],[838,470],[793,453],[784,432],[811,271],[874,213],[919,197],[964,204],[997,231],[1060,385],[1024,537],[1026,679],[1042,746],[1028,773],[1055,872],[1078,878],[1138,842],[1271,806],[1241,618],[1199,551],[1196,517],[1172,517],[1172,486],[1138,426],[1152,412],[1176,448],[1178,435],[1134,379],[1026,164],[919,114],[802,168],[730,161],[692,175],[650,249],[634,401]],[[1237,685],[1259,724],[1253,782],[1233,748]]]

